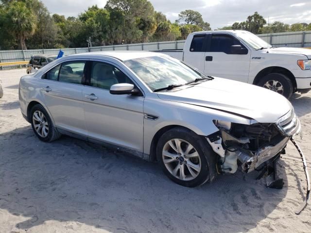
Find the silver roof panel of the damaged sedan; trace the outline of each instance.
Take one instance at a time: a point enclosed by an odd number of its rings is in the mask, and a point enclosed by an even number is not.
[[[165,54],[157,53],[157,52],[150,52],[150,51],[98,51],[98,52],[86,52],[86,53],[78,53],[78,54],[72,54],[68,57],[78,57],[81,55],[87,55],[87,56],[109,56],[114,57],[121,61],[126,61],[130,59],[136,59],[141,57],[152,57],[152,56],[165,56]],[[68,58],[67,57],[67,58]]]

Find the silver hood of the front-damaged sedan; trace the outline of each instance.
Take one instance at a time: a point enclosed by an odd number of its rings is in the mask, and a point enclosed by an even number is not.
[[[162,100],[218,109],[246,116],[260,123],[275,123],[292,104],[280,94],[255,85],[215,78],[188,88],[158,92]]]

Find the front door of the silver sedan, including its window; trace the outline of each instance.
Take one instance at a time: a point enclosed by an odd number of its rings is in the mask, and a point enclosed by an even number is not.
[[[111,63],[91,61],[88,67],[88,86],[83,89],[88,137],[143,152],[144,97],[109,93],[113,84],[136,84]]]

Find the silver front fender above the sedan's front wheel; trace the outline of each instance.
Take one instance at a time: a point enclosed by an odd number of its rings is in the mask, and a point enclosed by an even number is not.
[[[144,100],[144,113],[158,116],[156,120],[144,118],[144,150],[150,154],[155,134],[167,126],[182,126],[198,135],[209,135],[219,131],[213,120],[224,120],[240,124],[251,124],[254,120],[231,113],[173,101]]]

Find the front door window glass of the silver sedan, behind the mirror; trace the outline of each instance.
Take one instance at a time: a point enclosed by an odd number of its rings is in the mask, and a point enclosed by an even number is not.
[[[110,87],[117,83],[134,84],[120,69],[104,62],[91,64],[90,86],[110,90]]]

